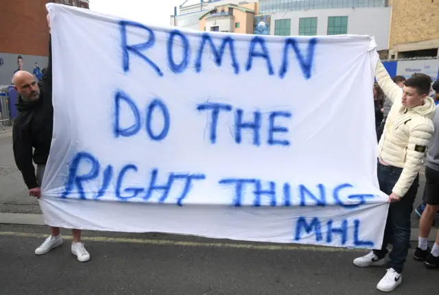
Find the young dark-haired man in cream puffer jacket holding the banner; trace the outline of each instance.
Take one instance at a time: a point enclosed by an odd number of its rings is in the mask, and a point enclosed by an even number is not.
[[[428,75],[414,74],[401,89],[378,61],[375,78],[393,102],[378,145],[379,188],[389,195],[390,206],[382,248],[355,259],[354,264],[384,266],[387,246],[393,244],[389,269],[377,285],[378,290],[390,292],[402,281],[401,272],[410,247],[410,215],[418,191],[418,172],[434,132],[432,119],[436,107],[427,96],[431,87]]]

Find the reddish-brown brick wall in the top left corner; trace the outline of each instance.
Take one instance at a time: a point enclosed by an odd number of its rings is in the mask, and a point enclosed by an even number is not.
[[[47,56],[49,29],[48,0],[3,1],[0,9],[0,52]]]

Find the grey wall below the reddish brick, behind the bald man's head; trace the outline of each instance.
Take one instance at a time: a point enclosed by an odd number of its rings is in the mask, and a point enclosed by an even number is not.
[[[34,71],[35,62],[41,70],[47,67],[47,56],[25,56],[23,54],[4,54],[0,52],[0,85],[10,85],[14,71],[19,68],[16,58],[21,55],[23,57],[23,70],[32,73]],[[2,62],[3,61],[3,62]]]

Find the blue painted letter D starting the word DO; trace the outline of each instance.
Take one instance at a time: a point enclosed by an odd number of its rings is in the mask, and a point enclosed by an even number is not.
[[[126,102],[130,107],[132,114],[134,115],[134,123],[132,126],[127,128],[121,128],[120,117],[121,117],[121,101]],[[140,123],[140,112],[137,108],[136,103],[131,99],[131,97],[124,93],[123,91],[117,91],[115,94],[115,114],[113,116],[112,132],[115,137],[132,137],[134,134],[139,132]]]

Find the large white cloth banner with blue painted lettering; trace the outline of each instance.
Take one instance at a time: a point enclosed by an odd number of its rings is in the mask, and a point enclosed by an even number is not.
[[[47,7],[47,224],[381,246],[373,39],[189,32]]]

